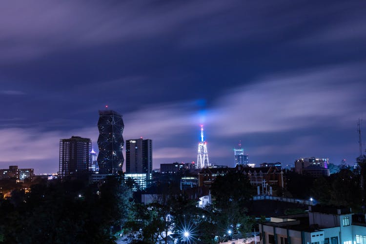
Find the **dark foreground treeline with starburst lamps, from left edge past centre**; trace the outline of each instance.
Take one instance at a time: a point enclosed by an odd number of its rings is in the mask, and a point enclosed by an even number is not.
[[[122,235],[131,243],[217,243],[254,230],[245,208],[253,188],[240,173],[217,178],[206,208],[169,182],[159,183],[161,194],[147,205],[134,202],[132,187],[120,175],[100,184],[54,180],[32,185],[28,193],[15,190],[0,200],[0,241],[114,243]]]

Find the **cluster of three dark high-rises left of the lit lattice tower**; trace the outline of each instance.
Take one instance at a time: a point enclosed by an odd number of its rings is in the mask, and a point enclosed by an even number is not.
[[[114,110],[100,110],[98,155],[89,138],[72,136],[61,139],[58,172],[61,179],[88,177],[90,182],[99,182],[108,175],[122,172],[123,129],[121,114]],[[125,179],[131,178],[139,189],[145,189],[152,178],[152,165],[152,140],[126,141]]]

